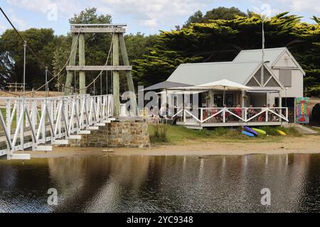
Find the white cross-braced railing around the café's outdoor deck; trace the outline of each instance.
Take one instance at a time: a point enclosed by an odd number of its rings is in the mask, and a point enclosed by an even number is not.
[[[191,124],[227,123],[227,122],[288,122],[287,107],[260,108],[190,108],[177,109],[172,117],[180,117],[178,121]]]

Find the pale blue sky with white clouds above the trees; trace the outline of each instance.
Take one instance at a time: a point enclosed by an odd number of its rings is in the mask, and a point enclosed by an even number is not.
[[[238,7],[273,16],[290,11],[304,16],[302,21],[320,16],[319,0],[0,0],[16,28],[53,28],[55,34],[67,34],[68,18],[87,7],[96,7],[99,14],[109,13],[113,23],[127,23],[127,33],[159,33],[182,25],[197,10],[203,13],[218,6]],[[0,33],[9,23],[0,15]]]

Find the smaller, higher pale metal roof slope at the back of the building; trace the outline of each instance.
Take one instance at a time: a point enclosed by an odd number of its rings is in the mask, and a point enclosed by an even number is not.
[[[279,57],[279,55],[287,48],[266,48],[265,49],[265,61],[267,62],[266,65],[272,66]],[[256,50],[241,50],[240,53],[235,57],[233,62],[258,62],[262,61],[262,49]]]

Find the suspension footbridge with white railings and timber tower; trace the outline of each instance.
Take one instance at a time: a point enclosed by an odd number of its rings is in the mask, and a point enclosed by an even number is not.
[[[9,20],[9,18],[7,19]],[[11,26],[13,25],[11,24]],[[132,67],[129,65],[127,49],[124,44],[126,25],[71,24],[70,26],[73,43],[67,62],[58,74],[53,75],[49,80],[48,68],[46,67],[46,83],[36,89],[36,91],[45,90],[46,96],[27,97],[26,94],[31,92],[26,92],[23,87],[23,96],[0,97],[1,158],[28,160],[31,155],[23,153],[25,149],[50,151],[53,149],[53,145],[67,145],[69,140],[79,140],[81,135],[90,134],[91,131],[97,130],[99,126],[105,126],[107,123],[116,120],[120,116],[119,72],[124,72],[126,75],[130,101],[133,105],[137,105],[132,82]],[[105,65],[85,65],[85,33],[109,33],[112,35]],[[33,55],[36,54],[27,45],[26,40],[23,40],[23,47],[23,84],[26,84],[26,48],[29,48]],[[77,52],[78,63],[76,62]],[[119,65],[120,52],[122,65]],[[112,62],[110,61],[110,55],[112,55]],[[112,65],[108,65],[110,62]],[[58,79],[63,70],[67,71],[65,83]],[[87,84],[85,82],[87,71],[100,71],[100,73]],[[110,78],[112,94],[102,94],[102,72],[108,71],[112,72]],[[78,88],[75,84],[77,72]],[[53,79],[63,87],[63,96],[48,96],[48,84]],[[100,95],[96,95],[95,91],[97,79],[100,79]],[[87,94],[88,87],[92,85],[94,86],[94,94]],[[106,90],[108,90],[108,87]]]

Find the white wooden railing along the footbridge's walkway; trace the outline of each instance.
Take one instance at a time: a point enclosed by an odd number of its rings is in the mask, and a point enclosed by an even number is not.
[[[51,150],[50,145],[68,144],[98,126],[113,114],[113,96],[73,95],[48,98],[0,97],[0,156],[27,159],[16,150]],[[24,107],[23,107],[24,106]],[[50,145],[46,145],[50,141]],[[3,146],[3,145],[2,145]]]

